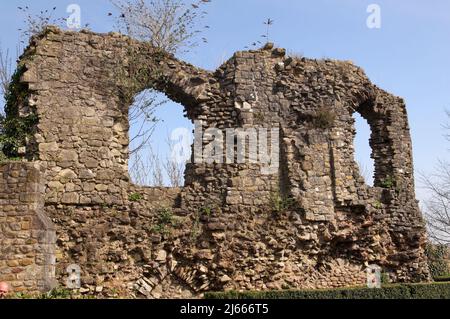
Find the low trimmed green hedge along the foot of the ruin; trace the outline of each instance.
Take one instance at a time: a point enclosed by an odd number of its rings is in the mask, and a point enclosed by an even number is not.
[[[206,293],[206,299],[450,299],[450,282],[393,284],[381,289],[365,287],[326,290],[272,290]]]

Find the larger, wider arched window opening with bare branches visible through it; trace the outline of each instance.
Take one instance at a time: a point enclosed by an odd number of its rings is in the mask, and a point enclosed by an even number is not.
[[[193,131],[185,108],[165,94],[147,89],[135,96],[128,118],[131,182],[150,187],[183,186]]]

